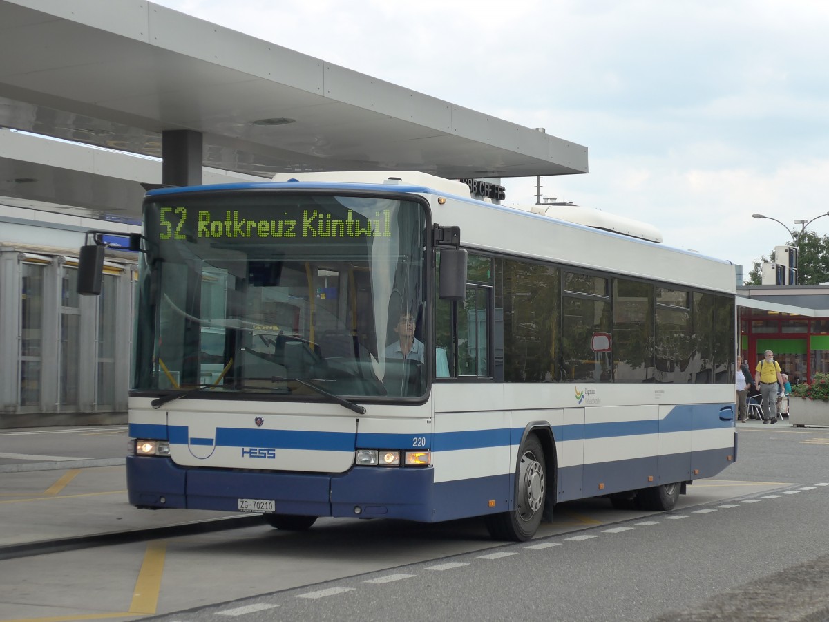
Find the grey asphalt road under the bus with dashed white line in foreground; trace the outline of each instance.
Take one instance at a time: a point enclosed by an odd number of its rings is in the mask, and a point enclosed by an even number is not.
[[[689,487],[673,512],[563,504],[521,544],[487,540],[476,521],[323,520],[299,534],[257,526],[2,561],[0,612],[56,622],[824,620],[827,451],[829,430],[741,426],[737,464]]]

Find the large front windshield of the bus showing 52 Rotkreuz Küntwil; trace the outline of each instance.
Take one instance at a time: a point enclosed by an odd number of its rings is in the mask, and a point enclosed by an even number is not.
[[[250,188],[149,197],[134,389],[423,396],[425,231],[417,200]],[[401,356],[405,339],[414,347]]]

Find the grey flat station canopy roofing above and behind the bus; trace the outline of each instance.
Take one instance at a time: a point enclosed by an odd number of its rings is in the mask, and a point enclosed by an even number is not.
[[[138,179],[124,157],[160,158],[165,130],[201,133],[204,166],[234,177],[588,169],[582,145],[137,0],[0,0],[0,128],[0,202],[99,215],[138,215],[161,165]],[[119,153],[52,157],[17,130]]]

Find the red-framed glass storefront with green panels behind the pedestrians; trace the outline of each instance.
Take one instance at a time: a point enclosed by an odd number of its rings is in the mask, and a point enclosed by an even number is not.
[[[792,384],[829,373],[829,318],[740,309],[740,350],[752,373],[766,350]]]

